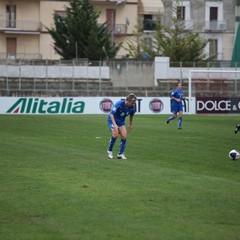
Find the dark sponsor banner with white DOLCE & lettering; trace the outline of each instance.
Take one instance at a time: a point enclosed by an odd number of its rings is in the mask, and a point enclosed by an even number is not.
[[[197,98],[196,113],[240,113],[240,98]]]

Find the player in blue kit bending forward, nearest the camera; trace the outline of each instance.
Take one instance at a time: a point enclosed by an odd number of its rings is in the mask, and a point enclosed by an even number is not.
[[[125,126],[125,119],[129,115],[129,126],[128,131],[133,128],[133,115],[136,112],[136,100],[137,97],[134,93],[130,93],[125,100],[117,101],[111,112],[108,114],[107,122],[112,136],[108,145],[108,158],[113,158],[113,147],[116,142],[117,137],[121,136],[121,141],[119,145],[118,159],[127,159],[124,155],[124,150],[126,148],[127,142],[127,129]]]

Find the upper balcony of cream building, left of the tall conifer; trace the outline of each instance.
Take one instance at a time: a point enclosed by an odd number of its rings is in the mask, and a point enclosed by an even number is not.
[[[40,34],[42,24],[35,20],[14,20],[0,19],[0,32],[13,34]]]

